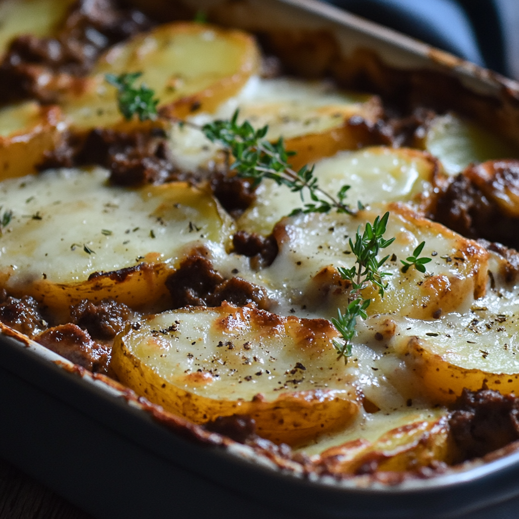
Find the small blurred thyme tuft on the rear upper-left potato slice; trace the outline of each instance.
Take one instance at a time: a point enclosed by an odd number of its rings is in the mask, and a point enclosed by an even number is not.
[[[155,91],[148,88],[144,83],[139,88],[133,84],[142,76],[142,72],[129,74],[106,74],[104,77],[108,83],[117,88],[117,103],[119,111],[125,119],[130,120],[135,114],[139,120],[155,120],[157,117],[158,99],[154,99]]]

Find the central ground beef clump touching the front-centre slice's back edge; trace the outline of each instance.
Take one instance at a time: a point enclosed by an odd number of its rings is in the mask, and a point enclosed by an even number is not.
[[[166,280],[173,308],[185,306],[220,306],[223,301],[236,306],[249,303],[267,307],[265,289],[241,278],[225,279],[212,263],[199,255],[188,256]]]

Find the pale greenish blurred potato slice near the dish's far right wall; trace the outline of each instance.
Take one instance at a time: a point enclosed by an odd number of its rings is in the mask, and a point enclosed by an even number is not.
[[[433,119],[424,147],[440,159],[449,175],[460,173],[472,162],[519,157],[519,149],[454,114]]]

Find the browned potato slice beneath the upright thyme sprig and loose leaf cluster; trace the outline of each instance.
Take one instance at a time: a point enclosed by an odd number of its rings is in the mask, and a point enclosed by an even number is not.
[[[359,226],[390,212],[385,237],[395,241],[379,256],[389,255],[384,271],[388,288],[384,298],[375,288],[363,291],[371,298],[368,313],[396,313],[416,319],[436,319],[448,312],[466,311],[485,294],[488,252],[473,240],[441,224],[417,216],[405,206],[373,206],[356,215],[298,214],[283,218],[274,229],[279,253],[270,267],[262,270],[263,282],[282,287],[286,298],[304,305],[320,317],[335,317],[347,304],[347,282],[337,267],[351,268],[356,258],[349,239],[355,241]],[[421,256],[432,261],[426,274],[414,267],[402,272],[401,260],[413,254],[422,241]]]

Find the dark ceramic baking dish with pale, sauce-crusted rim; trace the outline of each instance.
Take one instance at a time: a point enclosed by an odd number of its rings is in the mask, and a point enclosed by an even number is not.
[[[175,19],[203,9],[249,30],[285,68],[395,103],[469,114],[519,142],[519,85],[313,0],[135,0]],[[99,518],[516,517],[519,451],[432,479],[338,482],[276,465],[17,334],[0,336],[0,456]]]

